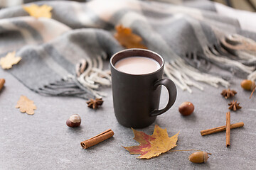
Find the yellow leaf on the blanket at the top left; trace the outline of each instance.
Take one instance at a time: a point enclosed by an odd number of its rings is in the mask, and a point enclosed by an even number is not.
[[[51,18],[52,14],[50,11],[53,9],[53,7],[48,5],[38,6],[36,4],[31,4],[31,6],[23,6],[23,9],[27,11],[30,16],[35,18]]]

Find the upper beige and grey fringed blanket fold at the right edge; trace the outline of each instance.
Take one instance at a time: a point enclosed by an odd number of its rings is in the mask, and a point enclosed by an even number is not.
[[[202,72],[207,72],[208,62],[245,79],[255,70],[256,42],[241,35],[228,35],[220,44],[207,45],[203,50],[188,52],[183,59]]]

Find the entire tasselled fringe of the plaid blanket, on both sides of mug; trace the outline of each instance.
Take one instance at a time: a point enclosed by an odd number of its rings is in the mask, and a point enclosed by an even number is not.
[[[200,72],[201,69],[210,67],[208,62],[228,69],[234,74],[247,75],[247,79],[255,81],[256,42],[241,35],[228,35],[220,43],[221,46],[206,46],[203,47],[203,52],[187,54],[184,60],[180,58],[166,62],[164,73],[179,88],[183,91],[187,90],[189,93],[192,93],[191,86],[203,91],[203,86],[196,81],[215,87],[218,87],[218,84],[225,87],[230,86],[229,82],[223,78]],[[66,79],[44,86],[39,89],[39,92],[55,96],[78,96],[82,98],[106,96],[99,89],[100,86],[111,86],[111,77],[110,70],[103,70],[102,57],[106,56],[103,54],[92,59],[87,57],[80,60],[75,65],[75,76],[68,75]],[[191,63],[193,67],[190,65]],[[196,65],[198,69],[194,68]]]

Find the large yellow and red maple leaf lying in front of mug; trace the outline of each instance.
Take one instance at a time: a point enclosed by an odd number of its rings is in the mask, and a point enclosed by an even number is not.
[[[140,143],[139,146],[124,147],[130,154],[141,154],[138,158],[149,159],[157,157],[159,154],[169,151],[176,147],[178,133],[172,137],[168,136],[167,130],[162,129],[159,125],[155,125],[153,135],[132,129],[134,132],[134,140]]]

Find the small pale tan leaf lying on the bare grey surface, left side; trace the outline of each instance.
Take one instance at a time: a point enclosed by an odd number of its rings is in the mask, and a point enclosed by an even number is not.
[[[17,102],[16,108],[20,108],[22,113],[26,112],[28,115],[33,115],[36,105],[33,101],[29,100],[26,96],[21,96]]]

